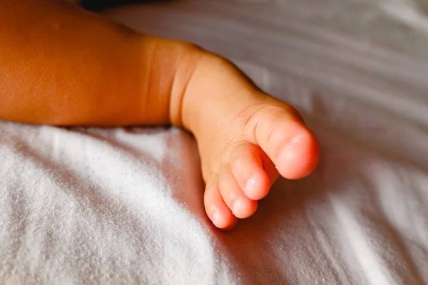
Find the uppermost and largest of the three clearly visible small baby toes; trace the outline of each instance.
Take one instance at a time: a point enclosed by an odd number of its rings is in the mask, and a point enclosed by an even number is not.
[[[260,147],[244,142],[235,147],[230,157],[230,168],[236,182],[253,200],[265,197],[270,188],[270,177],[263,168],[263,155]]]

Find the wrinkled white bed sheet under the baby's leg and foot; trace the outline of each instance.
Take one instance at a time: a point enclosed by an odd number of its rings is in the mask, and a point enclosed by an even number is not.
[[[428,284],[424,0],[178,0],[106,14],[227,56],[299,109],[315,173],[232,232],[175,128],[0,122],[1,284]]]

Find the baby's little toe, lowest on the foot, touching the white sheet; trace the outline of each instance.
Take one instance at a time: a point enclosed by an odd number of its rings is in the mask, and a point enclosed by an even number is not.
[[[230,229],[236,224],[236,217],[225,204],[218,187],[218,175],[211,175],[205,187],[205,212],[219,229]]]

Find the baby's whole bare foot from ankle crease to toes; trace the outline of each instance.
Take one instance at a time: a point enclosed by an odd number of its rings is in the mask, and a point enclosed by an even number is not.
[[[299,113],[218,56],[198,61],[182,111],[198,142],[205,210],[220,229],[254,214],[279,175],[299,179],[317,164],[317,140]]]

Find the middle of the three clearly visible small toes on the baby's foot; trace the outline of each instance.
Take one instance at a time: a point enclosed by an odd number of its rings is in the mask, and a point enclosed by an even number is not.
[[[233,176],[230,165],[223,166],[220,171],[218,186],[223,200],[235,217],[245,219],[254,214],[257,201],[249,199]]]

